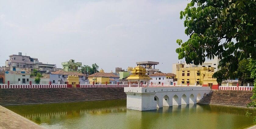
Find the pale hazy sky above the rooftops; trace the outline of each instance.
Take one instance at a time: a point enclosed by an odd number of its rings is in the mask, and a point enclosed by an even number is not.
[[[180,11],[187,0],[0,0],[0,66],[9,55],[56,64],[75,59],[105,72],[155,61],[172,72],[177,39],[187,41]]]

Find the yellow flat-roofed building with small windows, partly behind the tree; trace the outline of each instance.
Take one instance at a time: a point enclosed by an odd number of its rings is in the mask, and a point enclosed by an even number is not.
[[[183,67],[182,64],[177,64],[176,69],[176,78],[177,83],[180,84],[191,84],[194,85],[197,83],[197,85],[203,84],[204,76],[210,75],[209,73],[214,73],[214,67]],[[213,81],[214,79],[212,79]],[[216,79],[215,79],[216,82]],[[216,82],[217,83],[217,82]],[[214,83],[215,84],[215,83]]]

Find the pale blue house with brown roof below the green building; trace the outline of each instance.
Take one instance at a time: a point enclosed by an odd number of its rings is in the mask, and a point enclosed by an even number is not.
[[[59,70],[56,72],[52,72],[50,74],[50,81],[52,83],[60,83],[60,84],[66,84],[67,83],[67,78],[69,75],[77,75],[79,77],[79,82],[85,83],[87,81],[87,77],[83,73],[78,73],[78,72],[66,72],[63,70]]]

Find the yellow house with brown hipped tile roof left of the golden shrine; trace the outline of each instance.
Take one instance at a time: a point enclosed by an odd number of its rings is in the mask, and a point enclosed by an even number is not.
[[[89,82],[92,84],[93,82],[95,83],[116,83],[116,79],[119,79],[119,76],[114,75],[113,73],[94,73],[88,76]]]

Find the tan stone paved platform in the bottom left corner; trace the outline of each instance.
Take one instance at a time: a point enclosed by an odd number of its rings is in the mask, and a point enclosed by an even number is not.
[[[0,129],[46,129],[19,114],[0,106]]]

